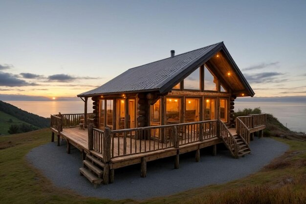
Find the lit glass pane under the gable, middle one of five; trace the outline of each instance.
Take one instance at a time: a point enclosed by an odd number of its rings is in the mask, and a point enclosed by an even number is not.
[[[200,113],[200,100],[199,99],[186,99],[185,102],[185,122],[199,121]]]

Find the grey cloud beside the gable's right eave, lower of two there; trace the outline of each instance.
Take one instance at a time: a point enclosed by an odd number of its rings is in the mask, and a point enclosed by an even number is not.
[[[258,74],[244,74],[246,80],[250,83],[280,83],[284,81],[288,81],[288,79],[278,80],[275,77],[284,75],[284,73],[280,72],[262,72]]]

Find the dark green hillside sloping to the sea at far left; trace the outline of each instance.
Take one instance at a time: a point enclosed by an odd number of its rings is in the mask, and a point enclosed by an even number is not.
[[[0,101],[0,134],[15,134],[48,127],[50,119],[28,113],[14,105]]]

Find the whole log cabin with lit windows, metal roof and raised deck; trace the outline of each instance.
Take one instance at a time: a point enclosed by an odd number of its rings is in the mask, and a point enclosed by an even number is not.
[[[128,69],[102,86],[79,94],[84,114],[51,115],[54,134],[84,153],[80,174],[93,184],[112,183],[114,169],[224,143],[235,158],[250,153],[265,115],[234,117],[237,97],[253,97],[223,42]],[[88,98],[93,113],[87,113]],[[80,125],[80,128],[75,126]],[[85,128],[86,130],[83,130]],[[81,130],[80,130],[81,129]]]

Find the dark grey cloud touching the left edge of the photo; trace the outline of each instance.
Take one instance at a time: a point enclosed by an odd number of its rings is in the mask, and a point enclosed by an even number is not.
[[[29,83],[24,80],[18,79],[18,75],[0,72],[0,86],[35,86],[36,83]]]

